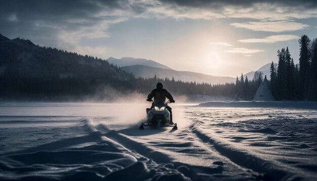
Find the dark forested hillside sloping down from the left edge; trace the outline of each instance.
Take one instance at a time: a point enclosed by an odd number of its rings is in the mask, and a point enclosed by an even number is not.
[[[0,97],[87,95],[100,86],[119,87],[134,79],[107,61],[21,38],[1,37],[0,55]]]

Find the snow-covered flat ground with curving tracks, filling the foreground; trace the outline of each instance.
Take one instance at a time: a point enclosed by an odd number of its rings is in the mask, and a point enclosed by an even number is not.
[[[317,180],[317,103],[0,103],[0,180]]]

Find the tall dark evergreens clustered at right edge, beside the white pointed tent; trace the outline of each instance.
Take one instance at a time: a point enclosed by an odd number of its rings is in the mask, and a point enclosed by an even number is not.
[[[288,47],[278,51],[278,65],[271,63],[270,85],[276,100],[317,101],[317,38],[298,40],[299,66],[294,65]]]

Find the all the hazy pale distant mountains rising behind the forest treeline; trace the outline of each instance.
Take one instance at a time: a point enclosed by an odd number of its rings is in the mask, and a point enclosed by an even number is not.
[[[124,57],[121,59],[116,59],[110,57],[107,59],[109,63],[113,65],[117,65],[121,67],[122,70],[134,74],[135,77],[144,77],[144,78],[152,78],[156,75],[156,77],[160,78],[169,78],[172,79],[174,77],[175,80],[182,81],[196,81],[196,82],[207,82],[211,84],[222,84],[226,82],[235,82],[234,77],[226,77],[226,76],[212,76],[203,73],[190,72],[190,71],[177,71],[173,70],[163,64],[157,63],[152,60],[140,59],[140,58],[132,58],[132,57]],[[262,66],[257,71],[261,71],[264,75],[269,79],[269,66],[270,63]],[[244,74],[244,76],[248,76],[249,80],[253,79],[254,72],[249,72]],[[239,75],[238,75],[239,76]]]

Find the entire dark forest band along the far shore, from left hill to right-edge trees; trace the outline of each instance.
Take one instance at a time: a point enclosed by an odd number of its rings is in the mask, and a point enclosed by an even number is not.
[[[278,64],[270,66],[270,85],[276,100],[317,100],[317,39],[299,39],[299,66],[286,49],[278,51]],[[83,97],[116,99],[138,92],[148,94],[161,81],[173,95],[223,96],[253,100],[263,81],[261,72],[252,80],[236,77],[225,84],[184,82],[174,78],[136,78],[106,60],[0,34],[0,98],[3,100],[80,100]],[[120,93],[111,94],[109,91]]]

